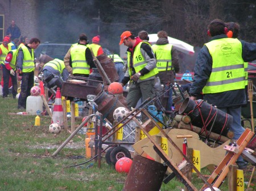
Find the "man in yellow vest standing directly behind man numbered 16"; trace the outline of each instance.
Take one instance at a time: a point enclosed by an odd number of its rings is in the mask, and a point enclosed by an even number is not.
[[[180,70],[179,56],[174,46],[169,44],[166,31],[159,31],[158,38],[156,44],[152,45],[152,49],[156,57],[156,66],[158,67],[160,82],[164,87],[170,88],[166,110],[171,111],[172,88],[169,85],[174,85],[175,73],[178,73]]]

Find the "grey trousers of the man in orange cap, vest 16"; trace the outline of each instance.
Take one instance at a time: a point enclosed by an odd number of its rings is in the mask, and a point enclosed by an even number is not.
[[[140,83],[131,83],[128,95],[126,97],[127,106],[129,108],[135,108],[137,102],[139,101],[139,99],[141,99],[141,97],[142,102],[148,97],[153,97],[155,95],[154,84],[154,79],[146,80]]]

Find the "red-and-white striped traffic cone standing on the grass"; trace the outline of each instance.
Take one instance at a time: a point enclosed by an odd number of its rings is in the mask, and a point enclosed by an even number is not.
[[[60,126],[63,124],[64,117],[63,117],[63,107],[61,104],[61,95],[60,95],[60,88],[57,88],[56,96],[55,96],[55,103],[53,107],[52,113],[52,124],[59,124]]]

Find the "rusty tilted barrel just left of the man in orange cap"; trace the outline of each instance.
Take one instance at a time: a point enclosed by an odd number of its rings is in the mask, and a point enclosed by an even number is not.
[[[106,75],[108,76],[110,82],[117,82],[119,80],[119,75],[115,69],[115,64],[111,58],[109,58],[105,53],[97,56],[98,61],[101,63]],[[101,74],[101,71],[99,70]],[[102,74],[101,74],[102,75]]]

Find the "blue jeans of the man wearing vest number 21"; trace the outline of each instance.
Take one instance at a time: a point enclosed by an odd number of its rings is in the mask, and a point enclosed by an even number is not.
[[[241,125],[241,106],[220,108],[220,110],[233,116],[233,122],[229,130],[234,132],[233,139],[237,140],[238,138],[240,138],[243,131],[245,131],[245,128],[243,128]],[[237,165],[240,168],[246,167],[247,163],[243,160],[242,156],[238,157]]]

